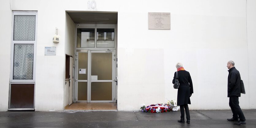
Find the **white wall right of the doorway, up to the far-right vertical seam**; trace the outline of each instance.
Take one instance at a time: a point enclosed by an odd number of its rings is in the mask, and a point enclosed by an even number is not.
[[[118,110],[176,100],[172,79],[177,62],[192,76],[191,109],[229,109],[227,61],[233,60],[248,82],[246,1],[157,3],[120,3]],[[147,29],[148,12],[170,12],[171,30]],[[242,108],[255,108],[250,107],[250,98],[242,94]]]

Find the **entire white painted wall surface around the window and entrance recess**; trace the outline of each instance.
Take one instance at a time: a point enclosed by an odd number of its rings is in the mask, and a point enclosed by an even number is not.
[[[11,10],[38,11],[36,111],[61,111],[66,104],[65,54],[72,55],[70,47],[74,46],[70,35],[73,23],[66,16],[66,10],[118,12],[119,111],[136,111],[141,104],[176,100],[177,90],[172,87],[172,79],[177,62],[183,63],[192,77],[191,109],[229,109],[226,67],[229,60],[235,62],[245,83],[241,108],[256,108],[254,0],[247,0],[247,9],[246,0],[97,0],[95,9],[88,9],[87,2],[0,2],[0,14],[5,19],[0,21],[1,44],[5,46],[0,51],[4,60],[0,67],[5,73],[0,77],[3,81],[0,111],[8,108]],[[171,13],[171,30],[149,30],[148,12]],[[52,43],[55,27],[59,28],[60,43]],[[56,55],[45,56],[45,46],[56,46]]]

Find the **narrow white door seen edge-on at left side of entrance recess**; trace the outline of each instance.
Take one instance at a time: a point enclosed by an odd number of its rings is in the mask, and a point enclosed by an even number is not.
[[[73,103],[73,57],[69,58],[69,105]]]

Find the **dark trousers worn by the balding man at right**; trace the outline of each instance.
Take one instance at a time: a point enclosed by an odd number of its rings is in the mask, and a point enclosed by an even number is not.
[[[229,97],[229,106],[231,107],[231,111],[233,113],[233,119],[240,119],[240,121],[245,121],[245,117],[239,106],[238,96]]]

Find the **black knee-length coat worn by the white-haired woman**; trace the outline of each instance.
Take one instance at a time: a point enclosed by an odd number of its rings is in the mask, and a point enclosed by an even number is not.
[[[176,72],[172,80],[173,84],[175,79]],[[177,105],[191,104],[189,95],[193,93],[193,83],[189,72],[185,70],[178,71],[178,80],[180,87],[178,88]]]

